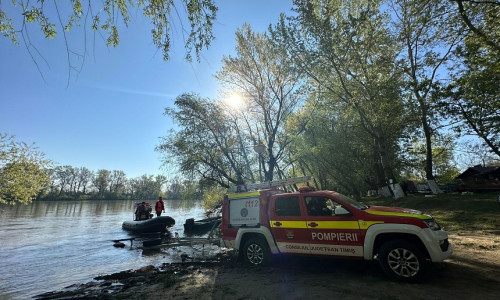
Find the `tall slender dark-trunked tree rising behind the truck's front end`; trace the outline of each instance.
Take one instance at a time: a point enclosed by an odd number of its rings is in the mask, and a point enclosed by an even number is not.
[[[448,1],[397,0],[391,8],[403,47],[399,67],[408,84],[408,108],[417,116],[425,139],[426,179],[433,193],[440,193],[433,174],[432,140],[438,118],[432,96],[438,91],[439,70],[449,61],[461,29],[454,26],[456,11]]]

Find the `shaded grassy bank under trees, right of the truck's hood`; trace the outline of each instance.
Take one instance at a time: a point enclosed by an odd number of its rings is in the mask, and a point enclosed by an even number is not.
[[[499,192],[472,195],[441,194],[434,197],[414,195],[398,200],[365,198],[363,203],[424,211],[431,214],[450,233],[500,235],[499,196]]]

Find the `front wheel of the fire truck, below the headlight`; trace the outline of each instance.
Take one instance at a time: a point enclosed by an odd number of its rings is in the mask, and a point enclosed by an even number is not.
[[[404,240],[383,244],[378,252],[378,260],[388,277],[403,282],[420,281],[428,268],[422,252]]]

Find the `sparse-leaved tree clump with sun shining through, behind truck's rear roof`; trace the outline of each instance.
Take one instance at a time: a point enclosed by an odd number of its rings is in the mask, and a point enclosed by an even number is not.
[[[283,176],[280,161],[290,143],[284,127],[302,99],[298,76],[265,34],[244,25],[236,40],[236,56],[224,57],[216,77],[227,98],[238,95],[244,104],[183,94],[175,109],[165,110],[180,130],[166,136],[157,150],[165,163],[176,162],[187,178],[198,179],[202,186],[254,182],[255,169],[264,170],[264,180]],[[256,167],[253,148],[260,143],[266,151]]]

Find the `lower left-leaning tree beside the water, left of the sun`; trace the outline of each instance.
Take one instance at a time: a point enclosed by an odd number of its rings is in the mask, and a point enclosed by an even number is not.
[[[221,107],[195,94],[178,96],[175,107],[166,108],[165,114],[180,129],[163,137],[156,148],[163,154],[163,163],[177,165],[188,178],[226,188],[230,183],[243,184],[245,164],[239,136]]]

